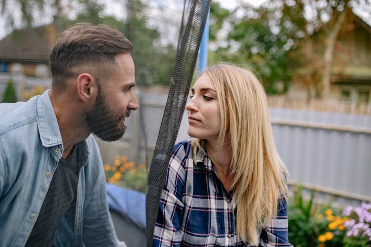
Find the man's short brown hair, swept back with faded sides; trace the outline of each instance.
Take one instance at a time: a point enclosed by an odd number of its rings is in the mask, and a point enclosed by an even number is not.
[[[104,24],[76,24],[58,36],[50,52],[51,86],[61,92],[69,79],[82,73],[99,82],[110,75],[117,54],[132,50],[133,44],[116,29]]]

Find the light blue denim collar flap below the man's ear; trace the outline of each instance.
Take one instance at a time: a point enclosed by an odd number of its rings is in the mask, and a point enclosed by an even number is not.
[[[49,90],[46,90],[37,100],[37,121],[40,139],[44,147],[62,144],[62,136],[51,105]]]

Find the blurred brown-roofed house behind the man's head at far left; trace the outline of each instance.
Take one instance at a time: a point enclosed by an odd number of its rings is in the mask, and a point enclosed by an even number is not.
[[[14,30],[0,40],[0,101],[6,83],[13,81],[18,100],[22,93],[50,86],[49,52],[57,36],[53,24]]]

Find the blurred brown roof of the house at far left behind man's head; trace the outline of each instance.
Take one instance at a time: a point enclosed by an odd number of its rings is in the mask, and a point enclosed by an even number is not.
[[[55,41],[50,25],[15,30],[0,40],[0,61],[48,63]]]

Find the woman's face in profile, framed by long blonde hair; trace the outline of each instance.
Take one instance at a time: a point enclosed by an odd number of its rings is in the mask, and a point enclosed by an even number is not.
[[[217,141],[220,130],[220,112],[214,83],[204,74],[191,88],[188,111],[188,135],[208,141]]]

